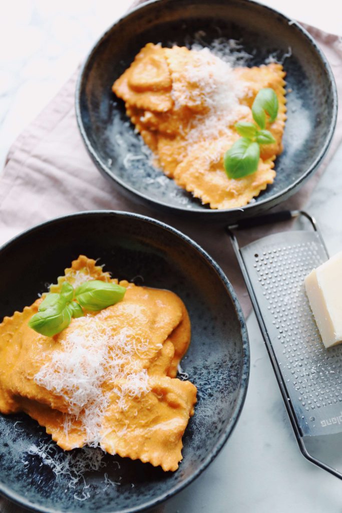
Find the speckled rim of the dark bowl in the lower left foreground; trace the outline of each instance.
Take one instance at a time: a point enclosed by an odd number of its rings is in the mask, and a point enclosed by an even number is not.
[[[240,325],[240,332],[242,337],[242,369],[241,369],[241,383],[239,390],[237,392],[236,400],[235,400],[235,407],[233,411],[233,415],[228,420],[228,424],[222,434],[220,435],[215,447],[212,449],[212,451],[208,454],[206,459],[199,465],[198,469],[193,472],[191,476],[189,476],[187,479],[185,479],[182,483],[179,483],[178,485],[173,486],[170,490],[164,492],[162,495],[157,497],[156,499],[150,500],[145,502],[144,504],[138,506],[138,507],[130,507],[126,509],[111,509],[108,513],[135,513],[137,511],[144,511],[148,508],[151,508],[153,506],[157,506],[158,504],[166,501],[170,497],[177,494],[179,491],[183,490],[186,486],[188,486],[191,482],[193,482],[207,467],[208,465],[216,458],[217,454],[222,450],[225,443],[227,442],[228,438],[230,437],[233,429],[236,426],[237,420],[240,416],[240,413],[242,411],[247,388],[248,388],[248,381],[249,381],[249,372],[250,372],[250,346],[249,346],[249,338],[248,338],[248,332],[245,322],[245,317],[242,312],[242,309],[240,307],[239,301],[236,297],[236,293],[228,280],[226,274],[224,271],[219,267],[219,265],[215,262],[215,260],[205,251],[199,244],[197,244],[193,239],[191,239],[188,235],[185,235],[183,232],[177,230],[176,228],[173,228],[172,226],[162,222],[158,221],[156,219],[150,218],[146,215],[136,214],[133,212],[125,212],[120,210],[89,210],[89,211],[81,211],[81,212],[75,212],[71,214],[66,214],[62,216],[58,216],[56,218],[52,218],[48,221],[44,221],[42,223],[38,223],[27,230],[24,230],[23,232],[15,235],[12,239],[10,239],[8,242],[3,244],[0,247],[0,253],[2,253],[7,248],[10,248],[11,246],[15,245],[17,242],[19,242],[22,238],[25,238],[27,236],[30,236],[31,233],[40,230],[41,228],[45,228],[49,225],[54,225],[55,223],[61,223],[63,221],[68,221],[76,218],[86,218],[87,216],[101,216],[101,215],[113,215],[116,217],[125,217],[125,218],[132,218],[137,219],[139,221],[146,222],[148,224],[156,225],[159,228],[162,228],[163,230],[166,230],[168,232],[171,232],[173,235],[176,235],[179,239],[182,239],[184,242],[186,242],[189,246],[191,246],[193,249],[196,250],[202,257],[206,260],[207,265],[211,266],[214,271],[216,271],[218,278],[222,281],[224,284],[231,300],[232,300],[232,306],[235,310],[237,320],[239,321]],[[54,508],[44,508],[42,506],[38,506],[30,502],[29,500],[25,499],[25,497],[22,497],[17,492],[12,491],[7,486],[4,486],[0,481],[0,493],[10,499],[12,502],[19,504],[21,506],[24,506],[32,511],[39,511],[41,513],[58,513],[58,509]]]

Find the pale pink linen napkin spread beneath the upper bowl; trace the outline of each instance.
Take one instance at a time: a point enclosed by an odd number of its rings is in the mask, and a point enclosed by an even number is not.
[[[342,103],[342,41],[313,27],[305,28],[326,54]],[[245,312],[250,308],[241,273],[223,224],[208,225],[158,213],[122,196],[95,168],[78,133],[74,112],[77,72],[52,102],[18,137],[9,150],[0,178],[0,244],[26,228],[55,216],[81,210],[114,209],[152,216],[182,230],[202,245],[224,269]],[[342,140],[342,116],[338,114],[334,139],[319,171],[309,183],[278,209],[303,207]],[[254,230],[253,238],[258,237]],[[248,239],[245,236],[244,243]],[[90,255],[96,258],[96,255]],[[22,508],[0,498],[0,512]],[[159,508],[158,508],[159,511]]]

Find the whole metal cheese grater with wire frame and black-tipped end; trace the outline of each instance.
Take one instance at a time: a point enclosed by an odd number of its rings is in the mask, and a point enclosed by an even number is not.
[[[235,230],[298,216],[309,220],[309,229],[267,235],[239,247]],[[342,447],[342,345],[325,348],[304,288],[306,275],[329,258],[315,220],[303,211],[276,212],[227,231],[300,450],[342,479],[335,468]]]

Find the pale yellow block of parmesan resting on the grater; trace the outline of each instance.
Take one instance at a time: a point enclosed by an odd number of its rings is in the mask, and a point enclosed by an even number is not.
[[[342,342],[342,252],[317,267],[305,278],[321,338],[326,347]]]

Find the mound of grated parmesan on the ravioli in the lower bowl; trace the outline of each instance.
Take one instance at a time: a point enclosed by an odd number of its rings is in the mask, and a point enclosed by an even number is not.
[[[68,407],[65,413],[66,435],[75,420],[81,421],[86,444],[100,445],[102,421],[112,391],[117,394],[117,408],[128,407],[126,398],[149,392],[147,370],[134,355],[144,356],[147,341],[136,337],[129,328],[113,335],[106,322],[108,312],[74,319],[61,338],[61,350],[39,370],[34,380],[57,396]],[[104,391],[104,384],[110,384]]]

